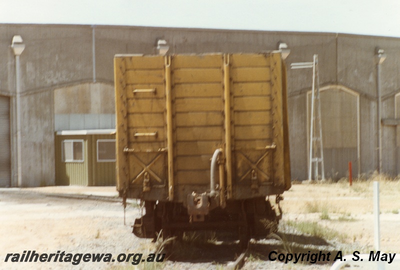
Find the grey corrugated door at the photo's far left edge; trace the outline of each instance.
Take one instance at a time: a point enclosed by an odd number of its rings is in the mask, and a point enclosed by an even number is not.
[[[9,98],[0,96],[0,186],[11,184]]]

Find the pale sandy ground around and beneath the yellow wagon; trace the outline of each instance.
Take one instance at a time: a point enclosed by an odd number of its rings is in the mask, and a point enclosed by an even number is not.
[[[235,243],[175,246],[181,256],[162,263],[129,262],[4,262],[7,253],[36,250],[37,253],[152,253],[155,244],[131,233],[140,208],[134,201],[126,208],[120,202],[60,198],[32,189],[0,191],[1,269],[225,269],[237,255]],[[76,193],[76,192],[75,192]],[[101,195],[100,193],[98,193]],[[281,202],[283,218],[279,238],[252,241],[244,269],[328,269],[330,263],[293,264],[271,262],[267,253],[374,250],[372,181],[293,184]],[[400,181],[380,180],[380,250],[400,253]],[[307,233],[299,224],[316,225]],[[320,230],[319,230],[320,229]],[[332,234],[332,232],[334,232]],[[325,233],[325,234],[323,234]],[[289,250],[288,250],[289,249]],[[186,253],[187,252],[187,253]],[[400,256],[398,254],[397,256]],[[174,259],[171,259],[174,258]]]

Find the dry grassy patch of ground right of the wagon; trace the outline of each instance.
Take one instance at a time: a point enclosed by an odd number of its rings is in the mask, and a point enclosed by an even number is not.
[[[348,179],[292,185],[283,194],[283,220],[301,233],[373,249],[374,181],[379,182],[381,246],[398,250],[400,237],[392,232],[400,225],[400,177],[372,173],[354,179],[352,186]]]

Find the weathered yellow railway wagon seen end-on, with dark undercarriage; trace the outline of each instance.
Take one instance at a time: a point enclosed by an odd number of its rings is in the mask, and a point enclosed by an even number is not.
[[[117,190],[144,201],[137,236],[276,228],[269,197],[290,187],[279,52],[115,55],[114,75]]]

